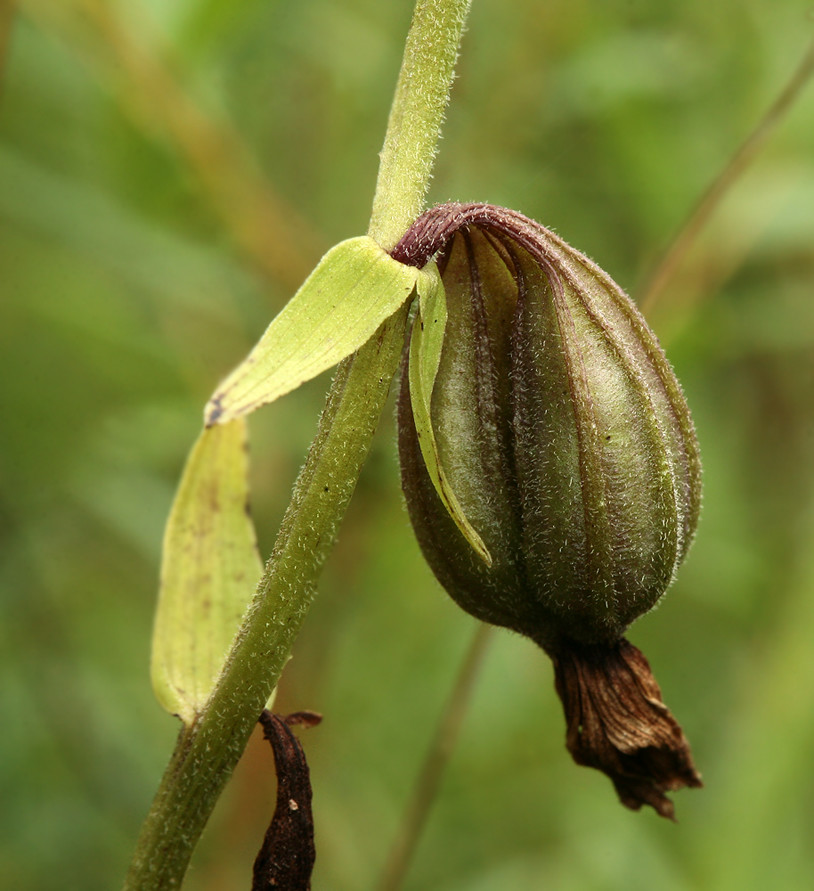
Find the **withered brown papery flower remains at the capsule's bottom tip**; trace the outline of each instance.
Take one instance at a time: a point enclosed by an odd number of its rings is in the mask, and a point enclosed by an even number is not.
[[[665,793],[699,787],[701,776],[647,659],[625,639],[564,646],[551,657],[574,761],[607,774],[626,807],[649,804],[674,819]]]

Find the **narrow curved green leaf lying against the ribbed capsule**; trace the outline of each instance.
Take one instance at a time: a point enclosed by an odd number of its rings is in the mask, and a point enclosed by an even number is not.
[[[438,442],[432,428],[432,391],[441,361],[441,348],[444,343],[444,329],[447,322],[444,285],[434,266],[427,267],[422,271],[417,287],[419,308],[413,322],[413,333],[410,339],[409,376],[410,399],[413,404],[413,418],[418,433],[418,442],[421,446],[421,455],[435,486],[435,491],[449,515],[478,556],[487,566],[491,566],[492,557],[486,545],[467,520],[449,479],[444,473]]]

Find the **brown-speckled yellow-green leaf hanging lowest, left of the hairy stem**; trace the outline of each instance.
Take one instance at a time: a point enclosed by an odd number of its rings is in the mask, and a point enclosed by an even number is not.
[[[248,515],[245,421],[204,430],[167,528],[153,632],[153,690],[189,724],[206,702],[263,570]]]

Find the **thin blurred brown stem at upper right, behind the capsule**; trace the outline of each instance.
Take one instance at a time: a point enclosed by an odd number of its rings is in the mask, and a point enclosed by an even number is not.
[[[789,78],[780,95],[771,104],[760,121],[758,121],[757,126],[741,143],[724,169],[709,185],[670,242],[669,248],[642,288],[639,308],[644,315],[647,315],[652,310],[656,300],[664,292],[668,281],[673,278],[678,267],[684,262],[700,231],[706,226],[709,218],[721,201],[723,201],[727,192],[744,174],[769,137],[785,118],[812,74],[814,74],[814,41],[809,45],[802,61]]]

